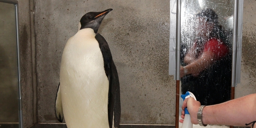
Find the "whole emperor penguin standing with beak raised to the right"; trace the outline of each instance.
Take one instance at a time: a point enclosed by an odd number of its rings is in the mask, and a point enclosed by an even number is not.
[[[112,9],[88,12],[62,54],[55,100],[58,121],[67,128],[119,128],[120,87],[107,41],[98,29]]]

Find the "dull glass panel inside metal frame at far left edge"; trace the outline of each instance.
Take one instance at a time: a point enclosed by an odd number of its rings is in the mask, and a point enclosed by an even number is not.
[[[0,125],[19,123],[15,5],[0,2]],[[7,126],[8,127],[8,126]],[[9,128],[9,127],[8,127]]]

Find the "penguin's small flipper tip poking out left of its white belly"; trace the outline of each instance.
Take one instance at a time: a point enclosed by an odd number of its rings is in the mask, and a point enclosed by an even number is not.
[[[60,83],[58,85],[57,94],[55,98],[55,116],[59,122],[63,121],[63,110],[62,110],[62,95],[60,92]]]

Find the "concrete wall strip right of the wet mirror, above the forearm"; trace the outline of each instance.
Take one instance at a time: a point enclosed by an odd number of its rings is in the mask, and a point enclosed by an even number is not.
[[[235,98],[256,93],[256,14],[255,0],[244,0],[241,83]]]

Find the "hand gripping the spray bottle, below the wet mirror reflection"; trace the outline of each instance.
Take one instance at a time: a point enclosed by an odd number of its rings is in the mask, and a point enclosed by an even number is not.
[[[183,119],[185,117],[185,107],[187,107],[188,112],[190,113],[190,117],[191,117],[191,123],[193,124],[198,124],[197,121],[197,112],[199,107],[201,106],[201,103],[199,101],[194,100],[194,98],[189,97],[187,99],[184,100],[183,105],[181,107],[181,109],[183,111],[181,111],[181,118],[180,119],[180,123],[183,123]]]

